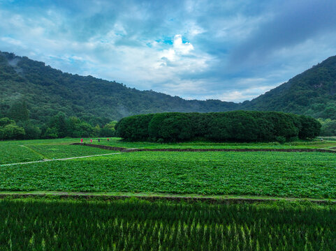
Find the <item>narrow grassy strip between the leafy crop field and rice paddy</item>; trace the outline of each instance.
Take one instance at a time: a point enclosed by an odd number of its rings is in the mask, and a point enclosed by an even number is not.
[[[146,194],[131,192],[57,192],[57,191],[31,191],[31,192],[0,192],[0,199],[6,198],[25,198],[25,197],[57,197],[68,199],[102,199],[118,200],[138,198],[147,201],[186,201],[186,202],[208,202],[210,204],[241,204],[241,203],[261,203],[273,201],[309,201],[314,204],[336,204],[336,199],[309,199],[309,198],[288,198],[288,197],[257,197],[257,196],[238,196],[238,195],[167,195],[167,194]]]

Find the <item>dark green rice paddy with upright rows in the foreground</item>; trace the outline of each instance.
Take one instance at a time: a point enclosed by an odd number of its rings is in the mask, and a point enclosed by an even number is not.
[[[0,250],[335,250],[336,206],[0,199]]]

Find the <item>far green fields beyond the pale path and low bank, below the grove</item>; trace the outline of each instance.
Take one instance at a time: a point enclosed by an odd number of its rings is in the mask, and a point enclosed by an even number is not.
[[[0,142],[0,165],[111,153],[111,151],[104,149],[70,145],[78,142],[80,142],[80,139],[36,139]],[[84,142],[89,144],[89,139],[84,139]],[[123,142],[120,138],[112,138],[107,141],[106,138],[102,138],[101,142],[98,142],[98,139],[93,139],[92,144],[138,149],[332,149],[336,147],[336,140],[330,138],[330,140],[324,140],[323,142],[316,140],[312,142],[290,142],[286,144],[279,144],[277,142],[183,142],[178,144],[159,144],[149,142]]]

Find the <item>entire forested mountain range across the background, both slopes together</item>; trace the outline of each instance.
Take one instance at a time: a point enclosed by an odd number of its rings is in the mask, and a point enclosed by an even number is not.
[[[90,121],[156,112],[226,112],[237,109],[282,111],[336,119],[336,56],[313,66],[251,101],[184,100],[139,91],[92,76],[62,73],[26,56],[0,52],[0,117],[15,102],[27,103],[36,124],[64,112]],[[95,121],[95,120],[94,120]]]

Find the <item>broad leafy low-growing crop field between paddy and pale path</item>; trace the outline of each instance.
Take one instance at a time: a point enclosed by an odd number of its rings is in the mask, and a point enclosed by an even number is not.
[[[333,153],[138,152],[0,172],[0,190],[336,198]]]

